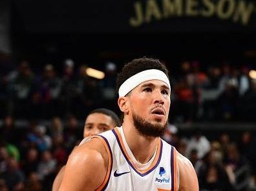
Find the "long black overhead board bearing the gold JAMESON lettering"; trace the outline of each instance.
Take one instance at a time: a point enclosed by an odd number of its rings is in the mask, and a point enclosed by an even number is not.
[[[25,32],[256,32],[256,0],[14,0],[12,5],[14,26]]]

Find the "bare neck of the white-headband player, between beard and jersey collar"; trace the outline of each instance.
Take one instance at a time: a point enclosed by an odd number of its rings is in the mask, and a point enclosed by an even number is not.
[[[147,137],[139,134],[131,121],[123,120],[123,133],[131,152],[137,161],[147,163],[155,154],[159,137]]]

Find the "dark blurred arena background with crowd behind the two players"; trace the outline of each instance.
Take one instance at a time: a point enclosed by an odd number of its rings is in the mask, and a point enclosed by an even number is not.
[[[255,190],[255,14],[253,0],[1,0],[1,188],[50,190],[85,116],[121,117],[116,74],[147,56],[169,68],[164,139],[200,190]]]

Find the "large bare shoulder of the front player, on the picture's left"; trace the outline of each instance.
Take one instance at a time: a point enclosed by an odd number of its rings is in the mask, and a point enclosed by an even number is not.
[[[96,190],[105,179],[108,164],[107,150],[100,139],[83,143],[69,157],[60,190]]]

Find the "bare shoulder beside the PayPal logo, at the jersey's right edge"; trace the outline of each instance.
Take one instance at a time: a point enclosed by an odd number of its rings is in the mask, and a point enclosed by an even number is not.
[[[180,179],[179,190],[198,191],[198,179],[193,165],[189,159],[182,156],[179,152],[177,152],[176,158]]]

